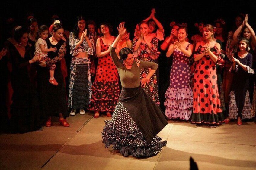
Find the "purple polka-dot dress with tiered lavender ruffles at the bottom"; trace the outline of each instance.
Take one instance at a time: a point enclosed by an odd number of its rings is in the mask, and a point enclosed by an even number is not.
[[[189,44],[190,45],[190,44]],[[187,45],[186,50],[189,45]],[[190,88],[190,57],[177,49],[173,52],[170,86],[165,92],[165,115],[169,119],[188,120],[192,113],[193,91]]]

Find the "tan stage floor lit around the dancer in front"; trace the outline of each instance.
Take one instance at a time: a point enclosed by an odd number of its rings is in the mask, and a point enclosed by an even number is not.
[[[104,148],[101,131],[106,116],[91,113],[67,118],[69,128],[56,122],[43,131],[1,134],[0,169],[189,169],[190,156],[199,169],[256,169],[256,124],[236,122],[196,126],[169,121],[158,134],[167,146],[157,156],[136,159]]]

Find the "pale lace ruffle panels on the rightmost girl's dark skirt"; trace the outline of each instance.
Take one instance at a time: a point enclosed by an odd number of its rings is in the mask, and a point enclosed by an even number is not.
[[[238,108],[235,101],[235,93],[234,91],[230,92],[230,101],[229,101],[229,118],[230,119],[237,119],[238,116]],[[253,114],[251,113],[251,102],[249,97],[248,90],[246,91],[245,95],[245,103],[242,110],[242,119],[251,119]]]

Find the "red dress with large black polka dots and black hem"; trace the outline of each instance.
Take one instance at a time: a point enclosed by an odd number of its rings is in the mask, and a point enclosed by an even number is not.
[[[218,57],[218,60],[221,59],[220,51],[216,46],[210,50]],[[195,53],[202,54],[203,51],[204,47],[200,45]],[[192,123],[219,124],[225,120],[219,100],[215,62],[209,55],[195,62],[193,92]]]

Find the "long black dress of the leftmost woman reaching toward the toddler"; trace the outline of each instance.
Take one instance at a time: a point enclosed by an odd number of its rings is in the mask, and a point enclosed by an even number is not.
[[[26,47],[24,57],[12,46],[10,59],[12,64],[11,85],[13,88],[10,129],[12,133],[25,133],[39,129],[40,111],[36,88],[31,82],[29,71],[32,58],[30,48]]]

